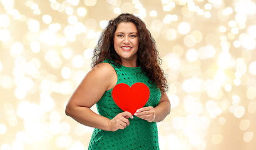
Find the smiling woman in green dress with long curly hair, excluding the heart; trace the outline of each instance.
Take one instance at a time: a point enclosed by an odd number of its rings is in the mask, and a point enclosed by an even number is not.
[[[66,114],[95,128],[88,149],[159,149],[156,122],[170,113],[168,88],[155,40],[145,23],[132,14],[111,20],[95,47],[93,69],[69,99]],[[131,114],[113,101],[113,88],[144,83],[150,97]],[[96,104],[98,113],[91,111]]]

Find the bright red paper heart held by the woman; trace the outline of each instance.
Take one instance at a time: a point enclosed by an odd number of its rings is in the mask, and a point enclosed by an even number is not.
[[[131,88],[128,84],[120,83],[113,88],[112,97],[119,108],[134,114],[145,106],[150,98],[150,89],[144,83],[135,83]]]

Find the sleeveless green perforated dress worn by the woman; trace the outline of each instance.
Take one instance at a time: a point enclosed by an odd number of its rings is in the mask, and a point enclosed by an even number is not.
[[[125,66],[116,67],[113,62],[106,60],[104,63],[110,63],[116,71],[119,83],[126,83],[130,87],[134,83],[144,83],[150,89],[150,98],[145,104],[146,106],[157,106],[160,101],[161,91],[155,85],[148,83],[149,78],[141,73],[141,68],[128,68]],[[113,89],[113,88],[112,88]],[[114,102],[111,92],[112,89],[106,91],[100,101],[96,103],[98,113],[108,119],[113,119],[116,114],[123,111]],[[155,122],[149,123],[146,120],[137,118],[129,118],[130,125],[125,129],[117,131],[105,131],[96,129],[93,131],[88,149],[159,149],[158,131]]]

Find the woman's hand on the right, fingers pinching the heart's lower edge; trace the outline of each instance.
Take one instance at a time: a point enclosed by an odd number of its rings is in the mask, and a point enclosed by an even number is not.
[[[140,108],[134,115],[151,123],[155,120],[155,109],[152,106]]]

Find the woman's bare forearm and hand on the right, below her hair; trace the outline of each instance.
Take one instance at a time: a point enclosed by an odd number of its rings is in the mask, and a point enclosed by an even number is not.
[[[151,106],[140,108],[135,113],[135,116],[141,119],[145,119],[148,122],[160,122],[170,114],[171,104],[166,94],[161,94],[158,105],[153,108]]]

